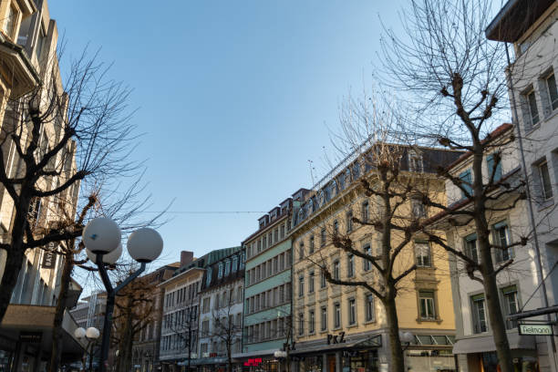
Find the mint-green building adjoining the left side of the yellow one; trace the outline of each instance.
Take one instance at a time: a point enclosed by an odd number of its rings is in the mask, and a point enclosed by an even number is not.
[[[286,370],[276,352],[292,341],[290,239],[293,199],[263,215],[259,229],[243,242],[243,352],[234,355],[243,366],[266,371]]]

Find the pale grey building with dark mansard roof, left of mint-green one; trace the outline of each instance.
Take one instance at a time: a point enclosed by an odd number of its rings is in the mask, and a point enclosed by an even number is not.
[[[202,372],[227,370],[229,359],[241,352],[243,336],[244,262],[241,247],[208,265],[200,291],[200,350]],[[237,370],[233,362],[233,370]]]

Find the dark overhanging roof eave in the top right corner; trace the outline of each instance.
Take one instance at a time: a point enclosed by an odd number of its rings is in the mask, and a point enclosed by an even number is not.
[[[509,0],[484,33],[490,40],[514,43],[553,3],[554,0]]]

